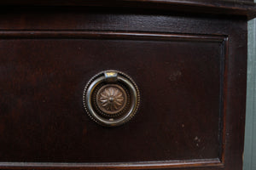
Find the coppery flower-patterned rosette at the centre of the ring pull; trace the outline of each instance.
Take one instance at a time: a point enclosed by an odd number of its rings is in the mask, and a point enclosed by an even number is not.
[[[125,103],[125,90],[116,84],[103,86],[97,94],[98,107],[108,114],[116,114],[122,111]]]

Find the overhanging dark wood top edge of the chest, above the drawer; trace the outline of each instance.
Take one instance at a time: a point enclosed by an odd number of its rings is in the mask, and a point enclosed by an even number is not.
[[[13,10],[27,6],[102,7],[102,10],[106,8],[139,8],[140,10],[166,11],[166,13],[235,15],[246,17],[247,20],[256,17],[256,6],[253,0],[9,0],[0,2],[1,9],[10,7],[9,10]]]

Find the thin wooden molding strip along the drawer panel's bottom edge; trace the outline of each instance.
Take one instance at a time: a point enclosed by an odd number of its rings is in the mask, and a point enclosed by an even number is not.
[[[55,162],[0,162],[6,169],[154,169],[176,167],[224,167],[224,163],[216,159],[199,159],[189,161],[140,161],[140,162],[106,162],[106,163],[55,163]]]

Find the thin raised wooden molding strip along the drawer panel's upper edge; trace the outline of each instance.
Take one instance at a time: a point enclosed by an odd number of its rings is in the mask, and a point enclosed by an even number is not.
[[[12,38],[85,38],[85,39],[131,39],[154,41],[223,42],[226,35],[182,34],[143,31],[0,31],[1,39]]]

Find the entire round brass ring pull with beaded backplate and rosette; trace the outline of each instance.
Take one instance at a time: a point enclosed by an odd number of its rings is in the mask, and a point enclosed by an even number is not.
[[[84,109],[103,126],[119,126],[131,120],[139,105],[136,83],[121,71],[102,71],[84,88]]]

